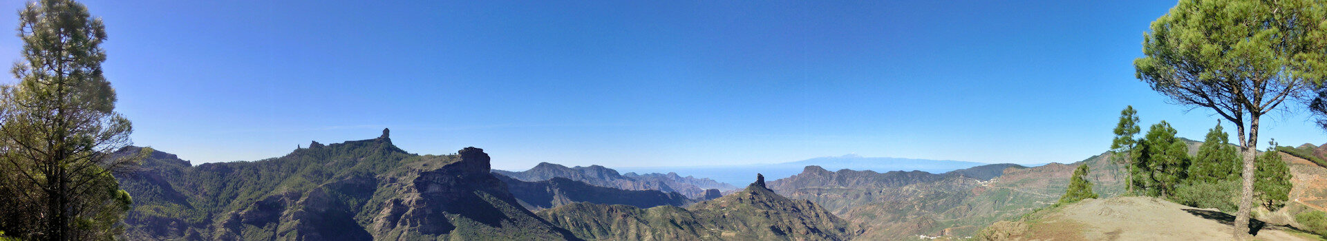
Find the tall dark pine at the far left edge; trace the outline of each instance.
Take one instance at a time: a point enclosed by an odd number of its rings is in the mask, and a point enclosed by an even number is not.
[[[111,240],[133,201],[111,172],[133,127],[102,77],[106,29],[72,0],[19,12],[23,60],[0,87],[0,230],[25,240]],[[147,154],[147,152],[142,152]]]

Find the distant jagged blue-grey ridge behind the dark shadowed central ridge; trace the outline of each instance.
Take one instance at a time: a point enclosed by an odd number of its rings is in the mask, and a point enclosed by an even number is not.
[[[520,172],[494,169],[494,173],[500,173],[503,176],[510,176],[516,180],[523,181],[543,181],[553,177],[564,177],[575,181],[584,181],[591,185],[617,188],[617,189],[630,189],[630,191],[661,191],[661,192],[677,192],[686,195],[690,199],[705,197],[706,189],[719,189],[730,191],[736,189],[727,183],[719,183],[710,179],[698,179],[693,176],[678,176],[674,172],[669,173],[636,173],[626,172],[625,175],[617,173],[616,169],[606,168],[604,166],[589,166],[589,167],[567,167],[553,163],[539,163],[533,168]]]

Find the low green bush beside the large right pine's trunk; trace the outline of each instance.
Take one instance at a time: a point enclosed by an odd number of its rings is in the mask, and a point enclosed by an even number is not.
[[[1176,193],[1170,200],[1194,208],[1216,208],[1233,213],[1238,209],[1238,203],[1235,203],[1238,196],[1239,179],[1227,179],[1181,184],[1176,187]]]

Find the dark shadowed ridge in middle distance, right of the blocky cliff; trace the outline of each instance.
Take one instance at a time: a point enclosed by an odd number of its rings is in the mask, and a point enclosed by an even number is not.
[[[691,200],[677,192],[664,193],[653,189],[625,191],[591,185],[564,177],[553,177],[541,181],[523,181],[499,173],[494,173],[494,176],[506,183],[507,191],[510,191],[516,200],[519,200],[520,204],[529,211],[541,211],[581,201],[593,204],[622,204],[638,208],[653,208],[660,205],[682,207],[691,204]]]

